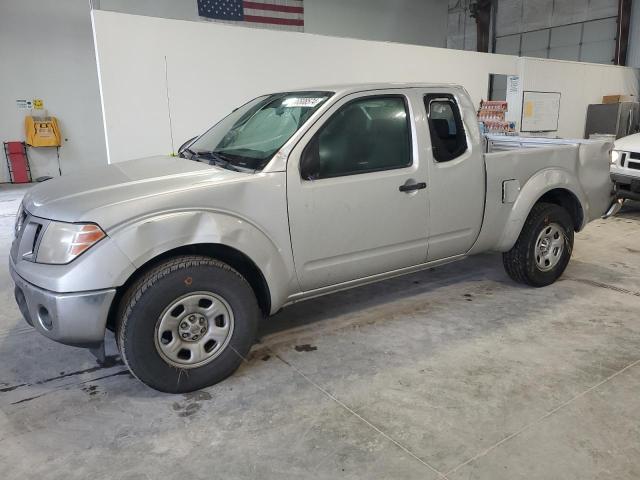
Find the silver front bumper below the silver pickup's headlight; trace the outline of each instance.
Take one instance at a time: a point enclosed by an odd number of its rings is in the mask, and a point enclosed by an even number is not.
[[[22,316],[38,332],[56,342],[93,348],[104,341],[107,317],[115,289],[57,293],[20,277],[13,262],[9,270]]]

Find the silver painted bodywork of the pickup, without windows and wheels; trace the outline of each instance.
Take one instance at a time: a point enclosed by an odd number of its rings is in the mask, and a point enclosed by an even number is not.
[[[511,150],[515,139],[510,139],[511,144],[503,145],[506,151],[484,154],[475,108],[461,87],[383,84],[319,90],[335,94],[259,173],[153,157],[34,187],[24,200],[31,218],[94,222],[107,237],[67,265],[43,265],[12,254],[10,268],[19,288],[55,298],[111,292],[159,255],[186,245],[219,244],[255,264],[268,285],[274,313],[303,298],[473,253],[509,250],[532,206],[552,189],[575,196],[585,213],[582,224],[609,205],[606,142],[553,142]],[[409,106],[410,166],[301,179],[302,150],[340,105],[389,93],[404,96]],[[446,163],[433,157],[424,105],[424,95],[431,93],[452,95],[462,112],[468,150]],[[407,181],[427,187],[398,191]],[[28,310],[45,301],[42,295],[29,296],[33,305]],[[95,312],[82,320],[95,318],[87,330],[91,341],[95,329],[104,330],[102,305],[96,302]],[[60,318],[61,331],[73,331],[78,321],[71,315]],[[79,343],[77,336],[56,339]]]

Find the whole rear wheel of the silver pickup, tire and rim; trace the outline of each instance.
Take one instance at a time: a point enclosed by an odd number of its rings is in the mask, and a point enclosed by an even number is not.
[[[567,268],[573,250],[573,221],[562,207],[534,205],[511,250],[502,254],[507,274],[519,283],[544,287]]]

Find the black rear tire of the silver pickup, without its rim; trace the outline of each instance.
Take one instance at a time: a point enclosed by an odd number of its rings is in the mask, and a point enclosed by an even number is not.
[[[543,271],[536,261],[536,241],[541,232],[551,224],[559,225],[564,231],[564,250],[556,265]],[[573,234],[573,221],[564,208],[551,203],[537,203],[531,209],[516,244],[502,254],[504,269],[519,283],[533,287],[552,284],[562,275],[571,259]]]

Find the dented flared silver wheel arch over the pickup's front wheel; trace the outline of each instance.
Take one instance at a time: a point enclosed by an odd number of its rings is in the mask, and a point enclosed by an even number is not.
[[[178,247],[221,244],[239,250],[256,264],[269,286],[274,309],[297,290],[286,246],[278,246],[258,226],[228,212],[165,212],[121,225],[109,234],[136,268]]]

